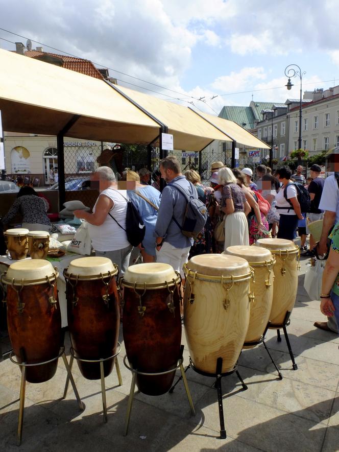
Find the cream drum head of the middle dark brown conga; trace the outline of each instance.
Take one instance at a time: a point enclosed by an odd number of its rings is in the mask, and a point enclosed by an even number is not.
[[[108,257],[80,257],[79,259],[71,260],[66,274],[78,275],[81,277],[100,276],[100,274],[107,275],[108,272],[111,275],[118,273],[117,267],[115,267]]]

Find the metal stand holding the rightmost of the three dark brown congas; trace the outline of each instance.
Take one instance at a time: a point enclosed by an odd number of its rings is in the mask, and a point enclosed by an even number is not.
[[[126,363],[127,355],[125,356],[124,364],[132,372],[132,383],[131,383],[130,395],[129,395],[129,398],[128,398],[128,406],[127,406],[127,413],[126,413],[124,436],[127,436],[127,434],[128,434],[128,427],[129,427],[129,424],[130,424],[130,418],[131,418],[131,412],[132,412],[132,404],[133,404],[133,399],[134,399],[135,382],[136,382],[136,376],[137,375],[147,375],[147,376],[165,375],[166,373],[171,373],[171,372],[173,372],[173,371],[175,371],[176,369],[179,368],[180,372],[181,372],[180,379],[182,378],[182,380],[184,382],[184,387],[185,387],[185,391],[186,391],[189,407],[190,407],[190,410],[191,410],[191,414],[192,414],[192,416],[196,415],[196,411],[195,411],[194,406],[193,406],[192,397],[191,397],[191,394],[190,394],[190,391],[189,391],[189,388],[188,388],[188,383],[187,383],[187,379],[186,379],[186,375],[185,375],[185,372],[186,372],[187,369],[184,370],[184,366],[182,365],[182,363],[183,363],[183,357],[182,357],[183,351],[184,351],[184,346],[181,345],[180,346],[180,356],[179,356],[179,359],[178,359],[178,363],[179,364],[174,369],[166,370],[165,372],[152,372],[152,373],[150,373],[150,372],[139,372],[137,369],[133,369],[132,367],[127,365],[127,363]]]

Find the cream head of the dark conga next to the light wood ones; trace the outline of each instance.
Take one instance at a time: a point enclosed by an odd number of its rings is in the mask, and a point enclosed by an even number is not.
[[[146,283],[146,284],[163,284],[164,282],[177,281],[178,275],[173,267],[168,264],[149,263],[131,265],[125,272],[124,281],[129,284]]]

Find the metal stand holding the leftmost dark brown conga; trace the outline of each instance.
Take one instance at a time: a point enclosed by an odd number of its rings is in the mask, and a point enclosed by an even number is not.
[[[19,404],[19,419],[18,419],[18,431],[17,431],[17,445],[19,446],[21,444],[21,438],[22,438],[22,427],[23,427],[23,411],[25,410],[25,392],[26,392],[26,368],[27,367],[34,367],[34,366],[42,366],[44,364],[52,363],[53,361],[56,361],[62,356],[66,371],[67,371],[67,378],[70,380],[70,383],[72,385],[74,394],[76,396],[79,408],[81,411],[85,409],[84,404],[80,400],[79,393],[74,381],[74,378],[72,376],[70,367],[68,365],[68,361],[65,355],[65,347],[61,347],[60,352],[58,356],[53,358],[49,361],[43,361],[40,363],[34,363],[34,364],[27,364],[25,362],[19,363],[13,359],[14,352],[11,352],[9,359],[12,361],[12,363],[18,365],[21,370],[21,384],[20,384],[20,404]]]

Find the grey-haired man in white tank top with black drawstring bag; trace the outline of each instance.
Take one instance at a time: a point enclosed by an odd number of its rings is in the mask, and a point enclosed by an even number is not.
[[[117,189],[114,173],[108,166],[100,166],[91,180],[99,181],[100,192],[93,213],[75,210],[74,215],[88,222],[95,255],[110,258],[119,267],[119,275],[123,275],[132,250],[125,231],[127,192]]]

